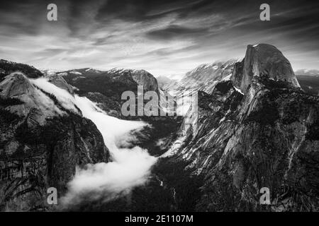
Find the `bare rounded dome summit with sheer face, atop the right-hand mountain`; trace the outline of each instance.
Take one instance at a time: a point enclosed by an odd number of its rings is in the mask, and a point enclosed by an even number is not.
[[[271,44],[248,45],[245,58],[235,64],[232,80],[242,92],[255,78],[282,81],[287,85],[300,87],[291,64],[286,57]]]

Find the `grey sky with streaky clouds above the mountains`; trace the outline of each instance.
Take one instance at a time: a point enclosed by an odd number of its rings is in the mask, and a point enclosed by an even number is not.
[[[57,5],[57,21],[47,5]],[[270,21],[259,6],[270,6]],[[181,76],[275,45],[294,70],[319,69],[319,1],[1,0],[0,59],[38,69],[145,69]]]

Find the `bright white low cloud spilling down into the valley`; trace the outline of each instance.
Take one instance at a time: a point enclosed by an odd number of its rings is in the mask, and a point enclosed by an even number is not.
[[[86,97],[73,97],[44,78],[34,80],[33,83],[55,95],[63,107],[73,109],[74,104],[77,105],[83,117],[91,119],[96,124],[111,153],[112,162],[100,162],[86,165],[82,169],[77,168],[74,179],[68,184],[67,194],[61,198],[63,206],[77,205],[84,199],[109,201],[121,194],[128,194],[135,186],[147,182],[150,169],[157,158],[138,146],[126,148],[135,140],[130,132],[140,130],[148,126],[147,124],[110,117]]]

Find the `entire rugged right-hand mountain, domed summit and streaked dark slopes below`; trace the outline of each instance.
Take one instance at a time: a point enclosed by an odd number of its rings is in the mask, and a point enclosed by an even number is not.
[[[253,48],[232,80],[198,93],[198,124],[169,156],[204,177],[197,210],[318,210],[319,99],[298,88],[277,49]],[[262,187],[269,206],[259,203]]]

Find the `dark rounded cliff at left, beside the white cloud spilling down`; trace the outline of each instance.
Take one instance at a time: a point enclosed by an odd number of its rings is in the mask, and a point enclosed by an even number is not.
[[[49,81],[69,90],[61,78]],[[76,106],[23,73],[0,83],[0,210],[47,210],[47,188],[61,196],[77,165],[107,161],[101,133]]]

